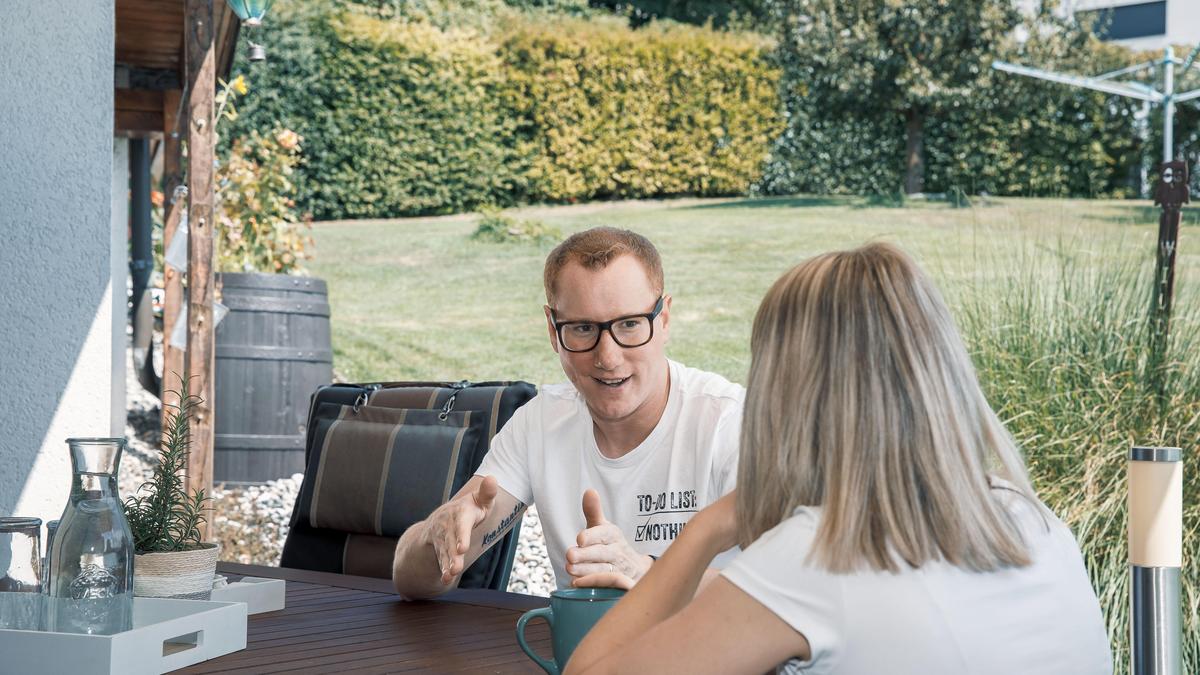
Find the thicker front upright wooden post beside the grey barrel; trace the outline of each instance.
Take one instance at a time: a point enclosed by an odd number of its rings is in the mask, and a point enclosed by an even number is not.
[[[187,377],[203,404],[192,425],[192,452],[187,461],[188,491],[212,490],[212,157],[216,50],[214,0],[187,0],[184,52],[187,64]],[[209,513],[204,538],[212,532]]]

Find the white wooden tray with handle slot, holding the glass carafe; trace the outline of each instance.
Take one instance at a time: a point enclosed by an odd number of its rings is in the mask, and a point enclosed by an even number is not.
[[[133,598],[115,635],[0,629],[4,673],[160,674],[246,649],[246,604]]]

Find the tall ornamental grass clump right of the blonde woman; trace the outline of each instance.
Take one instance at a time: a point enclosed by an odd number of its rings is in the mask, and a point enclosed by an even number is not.
[[[1200,313],[1178,270],[1164,393],[1151,358],[1153,245],[1088,251],[1082,241],[1019,259],[976,261],[990,276],[956,303],[989,401],[1026,453],[1045,503],[1070,526],[1100,599],[1115,671],[1129,669],[1127,454],[1183,448],[1183,558],[1200,560]],[[1130,253],[1136,251],[1136,253]],[[995,277],[996,270],[1018,270]],[[1200,671],[1200,587],[1183,569],[1183,670]]]

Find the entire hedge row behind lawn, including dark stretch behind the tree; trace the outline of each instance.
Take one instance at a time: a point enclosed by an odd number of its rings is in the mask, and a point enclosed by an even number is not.
[[[668,22],[631,30],[584,5],[281,4],[258,31],[270,60],[246,64],[239,49],[234,71],[252,91],[222,133],[304,136],[298,208],[322,220],[902,185],[902,115],[870,91],[830,104],[862,76],[830,71],[836,44],[781,40],[776,50]],[[1081,73],[1152,56],[1079,36],[1002,52]],[[1157,110],[1142,142],[1128,100],[986,67],[970,89],[925,120],[929,192],[1129,197],[1141,163],[1158,160]],[[1176,142],[1192,161],[1198,139],[1200,110],[1181,106]]]

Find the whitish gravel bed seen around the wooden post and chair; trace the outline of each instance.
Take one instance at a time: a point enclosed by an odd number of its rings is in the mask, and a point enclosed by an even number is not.
[[[128,359],[127,356],[126,363],[130,363]],[[158,399],[142,388],[131,368],[126,369],[125,392],[126,449],[118,480],[122,497],[133,495],[157,465],[161,429]],[[288,536],[292,506],[300,494],[302,479],[304,476],[296,473],[262,485],[215,486],[212,506],[216,516],[212,527],[216,540],[221,543],[221,560],[277,566],[283,539]],[[553,590],[554,573],[546,557],[538,509],[530,507],[521,521],[509,591],[548,596]]]

